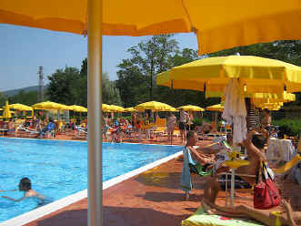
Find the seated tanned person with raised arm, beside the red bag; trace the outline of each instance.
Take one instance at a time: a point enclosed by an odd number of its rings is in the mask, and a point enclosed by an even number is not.
[[[237,168],[237,174],[256,175],[256,172],[259,169],[260,159],[266,160],[264,150],[265,142],[266,140],[261,134],[248,133],[247,139],[244,140],[244,146],[247,151],[247,160],[250,162],[250,164]],[[220,173],[227,170],[229,170],[227,167],[221,166],[221,169],[218,169],[217,172]],[[248,182],[250,185],[254,185],[256,183],[256,179],[254,177],[242,177],[242,179]],[[221,190],[221,185],[218,181],[218,174],[216,174],[212,180],[208,180],[206,182],[204,195],[207,200],[215,203],[219,190]]]

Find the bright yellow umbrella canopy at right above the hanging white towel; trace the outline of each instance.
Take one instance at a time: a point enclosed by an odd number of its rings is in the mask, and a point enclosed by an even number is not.
[[[239,78],[246,96],[254,93],[282,94],[301,90],[301,67],[258,56],[219,56],[173,67],[156,77],[157,85],[194,89],[221,96],[231,78]],[[268,86],[266,86],[268,84]],[[218,94],[219,93],[219,94]]]

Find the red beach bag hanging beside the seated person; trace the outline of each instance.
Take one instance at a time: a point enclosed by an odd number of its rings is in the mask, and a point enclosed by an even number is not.
[[[256,186],[254,186],[254,208],[259,210],[269,210],[276,207],[281,202],[280,194],[272,181],[268,171],[268,179],[264,176],[266,164],[260,164],[260,169],[256,175]],[[258,180],[261,180],[258,182]]]

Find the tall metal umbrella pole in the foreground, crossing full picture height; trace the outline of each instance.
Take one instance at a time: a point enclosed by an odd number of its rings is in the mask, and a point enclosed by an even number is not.
[[[102,0],[88,0],[88,225],[101,226],[102,181]]]

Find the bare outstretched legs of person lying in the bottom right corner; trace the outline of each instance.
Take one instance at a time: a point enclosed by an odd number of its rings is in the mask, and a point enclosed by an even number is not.
[[[282,200],[282,206],[284,211],[276,212],[279,214],[279,225],[291,225],[297,226],[301,223],[301,212],[292,211],[291,205],[286,200]],[[226,217],[238,217],[238,218],[251,218],[256,221],[263,222],[268,226],[275,226],[276,215],[275,210],[256,210],[245,204],[240,204],[236,207],[221,207],[210,202],[209,200],[202,200],[202,207],[208,214],[217,214]]]

